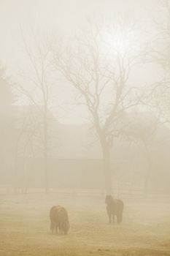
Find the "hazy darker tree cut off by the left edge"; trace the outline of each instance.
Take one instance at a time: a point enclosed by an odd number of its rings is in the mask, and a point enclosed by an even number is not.
[[[10,180],[12,176],[10,162],[12,162],[13,157],[12,136],[14,133],[12,104],[15,102],[15,95],[12,91],[12,79],[7,74],[6,67],[0,64],[0,162],[1,170],[4,170],[4,174]]]

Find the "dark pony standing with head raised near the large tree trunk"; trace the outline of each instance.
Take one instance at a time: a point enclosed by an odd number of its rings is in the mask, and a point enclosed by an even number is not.
[[[123,201],[120,199],[114,199],[112,195],[107,195],[105,198],[105,203],[107,204],[107,214],[109,216],[109,223],[115,222],[115,216],[117,218],[117,223],[123,220]]]

